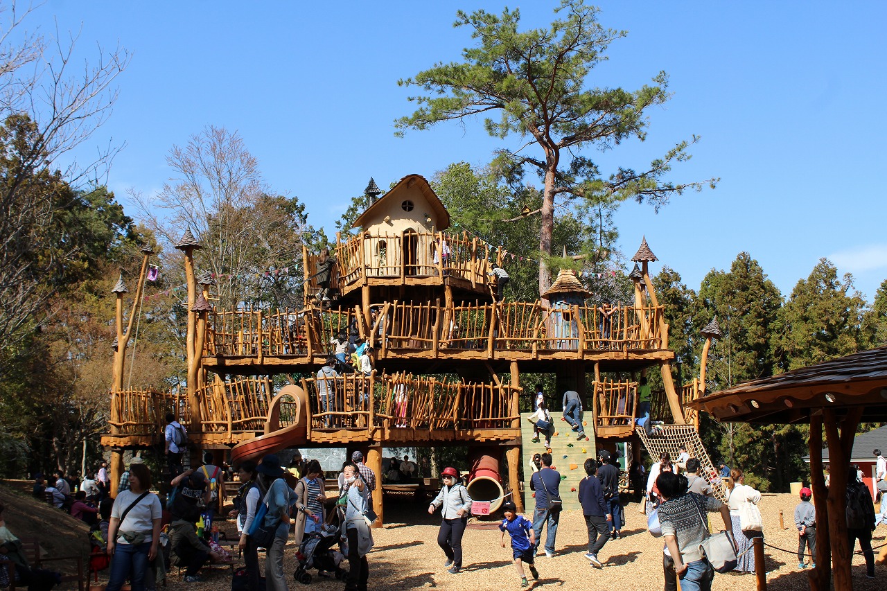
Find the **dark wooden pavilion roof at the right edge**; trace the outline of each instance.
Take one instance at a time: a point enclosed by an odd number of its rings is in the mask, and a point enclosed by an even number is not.
[[[761,423],[810,422],[823,408],[843,415],[863,406],[863,422],[887,422],[887,347],[745,382],[689,406],[718,421]]]

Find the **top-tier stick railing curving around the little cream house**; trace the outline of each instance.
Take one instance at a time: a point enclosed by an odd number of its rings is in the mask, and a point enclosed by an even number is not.
[[[444,248],[445,245],[445,248]],[[443,256],[445,250],[448,255]],[[306,295],[318,292],[317,255],[303,251]],[[485,289],[490,256],[498,256],[483,241],[447,232],[364,232],[336,245],[336,265],[330,280],[334,291],[367,278],[405,280],[406,278],[451,277],[466,280]]]

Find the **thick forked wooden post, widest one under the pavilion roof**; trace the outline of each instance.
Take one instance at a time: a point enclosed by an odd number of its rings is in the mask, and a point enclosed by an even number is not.
[[[862,406],[854,406],[847,411],[844,420],[838,424],[835,410],[824,408],[824,422],[826,427],[826,439],[828,441],[828,465],[830,491],[840,491],[840,494],[828,495],[828,529],[831,555],[832,573],[834,574],[836,591],[851,591],[853,579],[851,573],[852,556],[850,540],[847,538],[847,522],[844,518],[847,511],[847,499],[843,494],[847,490],[849,478],[848,466],[850,465],[850,452],[853,445],[853,436],[860,425]],[[838,429],[840,428],[840,432]],[[819,529],[819,528],[817,528]],[[819,564],[817,564],[819,566]]]

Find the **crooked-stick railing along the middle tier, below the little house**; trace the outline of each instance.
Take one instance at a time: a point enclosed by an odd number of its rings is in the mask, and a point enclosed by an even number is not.
[[[447,308],[437,300],[330,310],[309,304],[302,311],[234,310],[209,315],[209,357],[323,359],[341,332],[368,338],[384,358],[389,350],[524,351],[532,355],[575,351],[579,359],[606,351],[661,351],[662,307],[595,306],[544,309],[539,302],[473,303]]]

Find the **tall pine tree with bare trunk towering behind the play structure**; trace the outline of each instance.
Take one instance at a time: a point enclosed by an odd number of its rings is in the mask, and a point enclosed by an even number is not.
[[[499,151],[492,167],[511,185],[522,184],[527,171],[538,174],[544,184],[538,231],[540,293],[551,281],[546,256],[557,254],[556,207],[561,209],[558,215],[561,211],[577,218],[596,214],[598,224],[591,229],[599,248],[609,248],[616,238],[611,214],[623,201],[648,202],[658,208],[673,194],[716,182],[664,180],[674,162],[690,157],[687,148],[698,140],[695,136],[642,170],[619,167],[607,175],[580,154],[589,147],[607,150],[629,138],[644,140],[648,108],[669,98],[668,76],[661,72],[652,85],[637,91],[593,83],[593,68],[607,59],[609,43],[625,32],[602,27],[598,9],[583,0],[562,0],[554,12],[562,18],[550,28],[519,31],[518,10],[506,8],[501,15],[459,11],[455,26],[471,30],[475,45],[463,50],[463,62],[438,63],[399,81],[427,94],[411,97],[419,108],[395,122],[402,135],[408,129],[427,130],[439,122],[480,115],[491,136],[514,138],[520,147]],[[540,153],[527,155],[529,150],[523,148],[528,145],[537,146]]]

